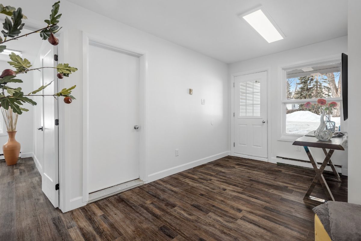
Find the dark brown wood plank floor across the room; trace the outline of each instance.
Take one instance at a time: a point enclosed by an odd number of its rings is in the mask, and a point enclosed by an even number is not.
[[[313,176],[228,156],[63,214],[31,158],[0,162],[0,240],[314,240]],[[347,177],[328,183],[347,201]]]

